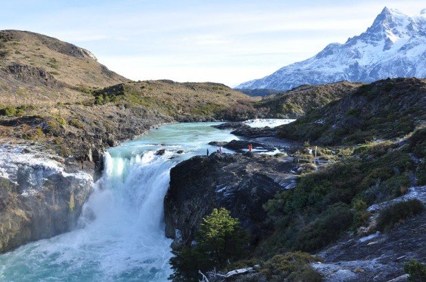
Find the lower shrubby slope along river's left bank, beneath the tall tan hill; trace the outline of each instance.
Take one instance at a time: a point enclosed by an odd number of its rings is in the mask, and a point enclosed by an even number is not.
[[[252,98],[223,84],[126,82],[82,94],[78,102],[0,106],[0,139],[41,141],[63,156],[131,139],[176,121],[253,117]]]

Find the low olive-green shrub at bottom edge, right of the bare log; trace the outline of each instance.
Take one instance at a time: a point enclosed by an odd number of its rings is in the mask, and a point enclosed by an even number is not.
[[[322,259],[306,252],[287,252],[269,259],[260,273],[265,274],[267,281],[322,281],[321,274],[310,266],[315,261]]]

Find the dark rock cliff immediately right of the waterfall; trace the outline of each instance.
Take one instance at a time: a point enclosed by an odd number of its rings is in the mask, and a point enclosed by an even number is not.
[[[260,236],[266,216],[262,205],[294,185],[293,167],[288,159],[251,153],[214,153],[179,163],[170,171],[164,198],[166,236],[175,244],[190,244],[202,218],[218,207]]]

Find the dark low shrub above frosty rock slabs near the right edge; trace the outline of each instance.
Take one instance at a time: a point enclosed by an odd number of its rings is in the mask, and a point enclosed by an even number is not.
[[[425,206],[417,199],[407,200],[405,202],[397,202],[392,206],[383,209],[377,218],[377,229],[379,231],[388,232],[397,224],[412,218],[424,211]]]

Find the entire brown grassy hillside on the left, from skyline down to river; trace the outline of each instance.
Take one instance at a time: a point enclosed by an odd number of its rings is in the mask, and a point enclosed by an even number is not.
[[[97,150],[164,122],[255,117],[254,101],[223,84],[132,82],[75,45],[0,31],[1,142],[36,141],[94,161]]]

